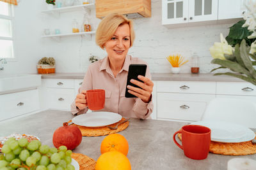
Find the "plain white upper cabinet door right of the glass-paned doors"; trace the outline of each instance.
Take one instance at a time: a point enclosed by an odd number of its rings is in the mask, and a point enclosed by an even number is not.
[[[242,18],[248,0],[219,0],[218,20]]]

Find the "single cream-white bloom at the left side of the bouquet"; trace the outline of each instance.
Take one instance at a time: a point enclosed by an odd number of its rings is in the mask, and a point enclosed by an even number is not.
[[[220,34],[220,43],[214,43],[213,46],[210,47],[210,53],[214,59],[226,60],[224,54],[232,55],[233,48],[228,45],[227,40],[223,37],[223,34]]]

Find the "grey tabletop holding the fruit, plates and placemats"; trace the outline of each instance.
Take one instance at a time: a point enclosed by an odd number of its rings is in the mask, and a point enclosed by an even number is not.
[[[68,111],[47,110],[22,118],[0,122],[1,136],[26,133],[38,136],[45,145],[52,145],[52,134],[73,115]],[[227,162],[234,157],[256,159],[256,155],[227,156],[209,153],[207,159],[193,160],[186,157],[173,142],[172,135],[188,123],[162,120],[139,120],[132,118],[129,127],[119,132],[129,143],[127,155],[132,169],[227,169]],[[255,129],[253,129],[255,130]],[[73,150],[97,160],[100,143],[104,136],[83,137],[81,144]]]

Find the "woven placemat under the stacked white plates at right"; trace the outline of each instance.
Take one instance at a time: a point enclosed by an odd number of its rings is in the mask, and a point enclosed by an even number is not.
[[[178,134],[181,141],[181,134]],[[255,137],[256,139],[256,137]],[[220,155],[251,155],[256,153],[256,144],[252,141],[246,141],[241,143],[221,143],[211,141],[210,152]]]

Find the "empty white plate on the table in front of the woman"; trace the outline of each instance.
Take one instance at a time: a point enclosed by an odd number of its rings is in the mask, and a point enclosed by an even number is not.
[[[76,125],[83,125],[86,127],[102,127],[115,124],[121,119],[122,116],[118,113],[99,111],[78,115],[72,118],[72,122]]]

